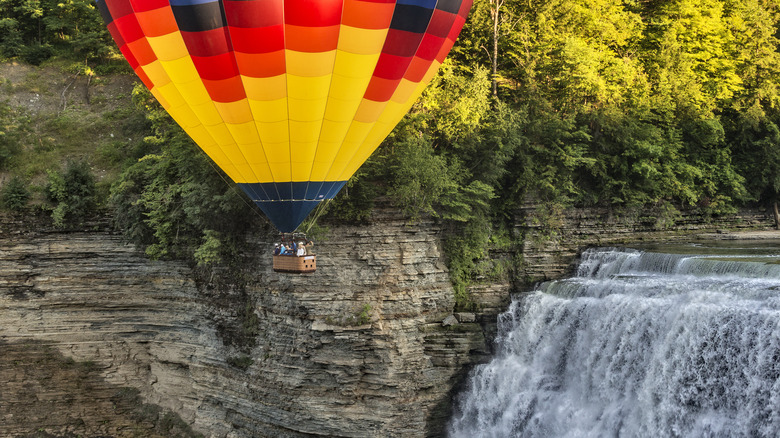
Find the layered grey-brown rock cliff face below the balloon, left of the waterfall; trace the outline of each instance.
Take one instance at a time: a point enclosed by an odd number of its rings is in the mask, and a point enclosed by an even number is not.
[[[264,236],[249,268],[204,274],[4,218],[0,436],[170,436],[176,415],[214,437],[440,435],[485,338],[451,317],[436,226],[377,214],[305,276],[274,273]]]

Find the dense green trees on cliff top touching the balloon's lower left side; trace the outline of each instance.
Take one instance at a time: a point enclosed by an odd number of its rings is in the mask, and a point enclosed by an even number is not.
[[[148,91],[136,88],[134,96],[154,132],[140,148],[153,153],[127,167],[112,186],[117,225],[131,241],[146,245],[152,258],[200,265],[232,260],[257,213]]]

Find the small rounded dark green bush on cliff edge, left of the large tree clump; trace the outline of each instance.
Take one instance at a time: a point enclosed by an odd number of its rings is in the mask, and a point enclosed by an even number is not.
[[[47,200],[52,204],[54,225],[81,224],[97,207],[95,176],[85,161],[71,161],[64,170],[49,172]]]

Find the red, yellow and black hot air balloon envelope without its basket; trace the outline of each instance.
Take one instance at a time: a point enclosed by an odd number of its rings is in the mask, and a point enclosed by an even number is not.
[[[97,0],[143,83],[282,232],[401,120],[471,4]]]

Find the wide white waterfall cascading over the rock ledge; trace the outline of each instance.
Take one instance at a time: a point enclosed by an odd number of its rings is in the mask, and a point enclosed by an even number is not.
[[[500,315],[450,436],[780,436],[778,260],[585,252]]]

